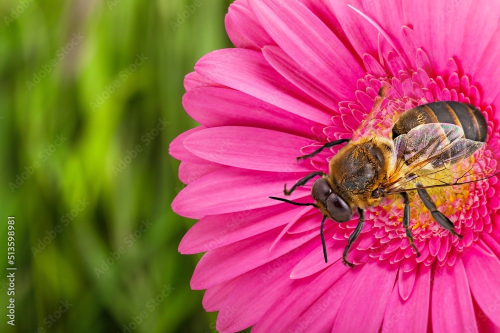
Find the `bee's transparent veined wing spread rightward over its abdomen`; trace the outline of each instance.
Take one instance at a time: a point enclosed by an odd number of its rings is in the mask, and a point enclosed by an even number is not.
[[[399,135],[394,140],[393,172],[383,184],[386,193],[450,186],[492,175],[478,159],[470,158],[484,142],[462,138],[459,126],[428,123]]]

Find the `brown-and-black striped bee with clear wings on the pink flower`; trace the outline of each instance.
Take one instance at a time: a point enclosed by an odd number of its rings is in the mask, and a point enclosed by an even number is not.
[[[297,157],[310,158],[325,148],[345,143],[330,159],[329,174],[312,172],[290,189],[286,189],[285,184],[284,194],[289,195],[297,186],[303,186],[313,177],[320,176],[311,188],[314,203],[270,197],[297,205],[313,205],[319,209],[323,215],[320,235],[325,262],[327,256],[323,226],[326,218],[346,222],[357,210],[359,221],[342,254],[343,263],[353,267],[347,260],[347,252],[361,233],[364,209],[377,206],[383,197],[396,193],[404,202],[402,225],[406,237],[416,256],[419,256],[409,228],[410,202],[407,191],[412,190],[417,191],[441,227],[461,238],[449,218],[437,209],[427,189],[463,184],[497,174],[477,169],[474,163],[470,163],[466,169],[458,167],[460,161],[466,162],[486,141],[486,120],[477,108],[455,101],[419,105],[399,114],[393,126],[389,127],[388,135],[384,136],[378,133],[381,127],[379,122],[394,114],[381,107],[387,91],[387,85],[380,88],[373,109],[354,131],[353,137],[328,142],[311,154]],[[383,112],[385,116],[380,116]]]

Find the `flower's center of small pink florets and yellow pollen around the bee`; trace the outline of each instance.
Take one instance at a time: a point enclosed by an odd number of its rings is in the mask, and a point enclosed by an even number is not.
[[[486,121],[491,117],[492,107],[482,102],[478,87],[470,84],[466,75],[458,75],[458,70],[445,76],[429,77],[423,70],[399,71],[398,77],[376,77],[368,73],[357,82],[356,101],[342,101],[339,103],[339,114],[332,117],[332,125],[324,128],[313,128],[316,134],[324,134],[321,140],[333,141],[339,138],[349,138],[358,124],[371,110],[379,88],[388,83],[390,95],[383,105],[389,110],[398,111],[413,106],[430,103],[437,100],[456,100],[475,105],[485,111]],[[484,112],[483,112],[484,113]],[[395,114],[395,113],[392,113]],[[378,124],[383,133],[390,132],[397,116],[386,117]],[[491,122],[488,127],[491,126]],[[491,135],[491,128],[488,133]],[[318,142],[323,144],[324,142]],[[336,152],[338,147],[332,149]],[[475,155],[457,165],[455,169],[466,169],[474,163],[474,167],[486,170],[491,163],[491,152],[480,149]],[[312,164],[319,170],[327,169],[327,160],[317,158]],[[477,180],[469,176],[466,180]],[[452,265],[457,253],[464,247],[470,246],[477,240],[481,232],[491,230],[489,214],[496,211],[495,207],[488,207],[487,200],[491,196],[488,192],[489,181],[479,180],[453,186],[429,188],[428,193],[437,206],[437,209],[446,215],[454,225],[456,232],[462,239],[451,235],[441,227],[431,216],[430,211],[420,200],[416,191],[409,191],[410,197],[410,229],[415,245],[419,249],[420,257],[413,258],[413,262],[431,264],[438,260],[440,265]],[[494,191],[493,191],[494,193]],[[363,228],[357,251],[367,251],[371,257],[388,259],[398,262],[404,258],[414,257],[415,254],[402,226],[404,204],[402,197],[392,194],[385,197],[377,207],[366,210],[365,224],[371,224],[371,229]],[[339,223],[341,229],[353,229],[357,219],[347,223]],[[348,231],[348,230],[344,230]],[[347,234],[348,232],[344,232]],[[409,268],[411,269],[411,267]]]

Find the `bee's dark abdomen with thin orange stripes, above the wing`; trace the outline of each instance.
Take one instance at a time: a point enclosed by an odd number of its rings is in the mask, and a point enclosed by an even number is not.
[[[453,123],[462,127],[465,138],[486,141],[486,119],[474,106],[456,101],[438,101],[404,111],[392,127],[392,139],[411,128],[430,122]]]

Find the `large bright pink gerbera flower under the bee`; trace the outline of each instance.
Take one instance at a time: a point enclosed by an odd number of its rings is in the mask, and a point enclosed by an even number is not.
[[[349,6],[350,4],[351,6]],[[482,164],[500,138],[500,2],[491,0],[236,0],[225,19],[236,46],[203,56],[186,75],[183,105],[201,125],[170,154],[188,184],[173,210],[200,219],[181,253],[204,252],[192,279],[234,332],[500,331],[500,183],[496,177],[433,192],[463,239],[411,197],[416,257],[389,196],[357,224],[271,200],[336,149],[297,162],[327,141],[350,137],[388,83],[404,108],[435,100],[478,107],[488,121]],[[489,163],[489,164],[488,164]],[[309,187],[289,199],[312,202]]]

